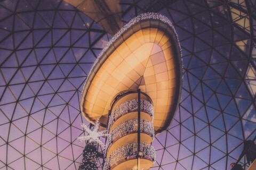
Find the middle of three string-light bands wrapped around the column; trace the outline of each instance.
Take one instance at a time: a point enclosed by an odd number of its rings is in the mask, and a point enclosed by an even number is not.
[[[124,137],[127,134],[137,133],[137,132],[138,132],[138,119],[125,121],[122,124],[119,124],[108,135],[108,139],[106,142],[106,152],[107,152],[109,146],[111,145],[111,143],[114,143],[116,140]],[[154,139],[155,131],[154,131],[154,126],[151,121],[144,120],[144,119],[141,120],[140,132],[148,134],[148,135],[150,135],[150,137],[152,139]],[[106,154],[106,152],[105,152],[105,154]]]

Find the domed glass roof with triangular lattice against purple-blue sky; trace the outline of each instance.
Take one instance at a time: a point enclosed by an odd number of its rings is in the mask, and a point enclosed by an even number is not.
[[[179,107],[153,142],[150,169],[230,169],[256,136],[256,2],[120,5],[124,24],[142,12],[167,16],[182,48]],[[76,139],[89,124],[81,91],[111,36],[59,0],[0,1],[0,35],[0,169],[78,169],[85,143]]]

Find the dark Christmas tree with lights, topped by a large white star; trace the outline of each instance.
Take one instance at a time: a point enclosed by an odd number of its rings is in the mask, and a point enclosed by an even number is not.
[[[81,126],[84,128],[87,135],[78,137],[77,139],[81,142],[86,141],[87,143],[83,150],[83,160],[79,166],[79,170],[98,170],[97,158],[99,153],[97,145],[105,148],[104,143],[99,138],[104,137],[106,131],[99,131],[99,121],[95,123],[93,129],[90,129],[85,124],[81,124]]]

